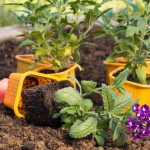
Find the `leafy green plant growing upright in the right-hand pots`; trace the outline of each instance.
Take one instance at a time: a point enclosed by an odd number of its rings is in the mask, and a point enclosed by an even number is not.
[[[150,2],[125,0],[126,8],[111,16],[103,16],[103,31],[100,36],[108,36],[115,42],[114,52],[108,58],[113,62],[118,57],[125,58],[125,68],[141,84],[147,84],[146,58],[150,57]],[[148,67],[149,68],[149,67]]]

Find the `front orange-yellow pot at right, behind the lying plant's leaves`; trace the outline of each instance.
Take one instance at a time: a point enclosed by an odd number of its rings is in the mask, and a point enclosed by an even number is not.
[[[115,79],[114,74],[122,70],[123,67],[117,68],[109,74],[110,83]],[[147,78],[150,78],[150,73],[147,73]],[[124,89],[133,95],[133,102],[139,99],[139,104],[147,104],[150,106],[150,85],[142,85],[139,83],[126,81],[123,85]]]

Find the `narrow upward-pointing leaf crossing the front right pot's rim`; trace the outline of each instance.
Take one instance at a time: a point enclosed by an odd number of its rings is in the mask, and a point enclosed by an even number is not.
[[[129,73],[130,73],[129,68],[126,68],[125,70],[120,72],[119,75],[115,78],[113,85],[116,87],[122,86],[124,84],[124,82],[127,80]]]

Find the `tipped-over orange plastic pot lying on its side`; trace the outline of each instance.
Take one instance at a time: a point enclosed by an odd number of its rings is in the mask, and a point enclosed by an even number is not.
[[[28,71],[26,73],[12,73],[9,76],[8,89],[4,97],[4,105],[14,110],[17,117],[24,117],[24,106],[22,103],[21,92],[36,85],[50,83],[53,81],[70,81],[74,87],[76,84],[68,75],[75,75],[75,68],[80,67],[78,64],[72,65],[68,70],[57,74],[43,74],[40,69]],[[42,68],[44,69],[44,68]]]

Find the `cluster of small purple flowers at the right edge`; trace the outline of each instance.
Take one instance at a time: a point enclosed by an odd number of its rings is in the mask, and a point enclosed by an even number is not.
[[[150,136],[150,107],[135,104],[132,107],[135,117],[128,118],[127,129],[132,133],[133,139],[142,139],[142,137]]]

